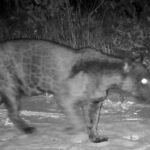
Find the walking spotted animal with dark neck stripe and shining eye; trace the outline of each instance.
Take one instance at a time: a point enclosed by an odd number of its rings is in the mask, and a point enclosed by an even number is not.
[[[149,76],[141,64],[90,48],[74,50],[43,40],[13,40],[0,44],[1,101],[11,121],[25,133],[32,133],[34,127],[20,117],[21,97],[53,93],[77,132],[86,129],[91,141],[105,141],[107,138],[97,132],[99,115],[95,114],[107,97],[107,91],[117,87],[148,99],[150,86],[142,85],[142,78],[149,79]],[[82,114],[87,123],[79,117]]]

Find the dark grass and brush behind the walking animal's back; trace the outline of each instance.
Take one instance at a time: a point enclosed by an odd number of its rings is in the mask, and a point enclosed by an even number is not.
[[[148,56],[150,1],[1,0],[0,40],[19,38]]]

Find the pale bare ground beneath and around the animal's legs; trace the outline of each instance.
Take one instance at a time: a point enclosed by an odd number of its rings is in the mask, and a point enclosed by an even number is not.
[[[99,132],[108,142],[91,143],[86,134],[65,132],[66,117],[50,95],[22,100],[22,116],[37,127],[33,135],[18,131],[0,107],[1,150],[149,150],[150,104],[125,98],[107,99],[102,109]]]

